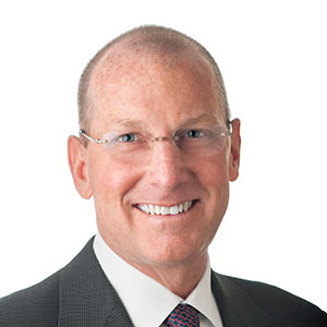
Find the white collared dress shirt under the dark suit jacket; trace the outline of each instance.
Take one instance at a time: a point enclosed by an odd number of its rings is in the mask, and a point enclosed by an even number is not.
[[[180,303],[190,304],[199,312],[201,327],[222,327],[211,292],[209,262],[196,288],[183,300],[119,257],[99,234],[93,246],[102,270],[135,327],[164,327],[165,319]]]

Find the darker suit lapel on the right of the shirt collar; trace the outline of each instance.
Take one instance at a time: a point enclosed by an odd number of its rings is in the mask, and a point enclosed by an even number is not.
[[[211,287],[223,327],[269,327],[272,317],[228,277],[211,271]]]

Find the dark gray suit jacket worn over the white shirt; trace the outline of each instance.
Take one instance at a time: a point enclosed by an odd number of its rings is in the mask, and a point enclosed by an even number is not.
[[[278,288],[215,272],[211,283],[223,327],[327,327],[324,312]],[[97,262],[92,239],[69,265],[48,279],[0,299],[0,326],[133,325]]]

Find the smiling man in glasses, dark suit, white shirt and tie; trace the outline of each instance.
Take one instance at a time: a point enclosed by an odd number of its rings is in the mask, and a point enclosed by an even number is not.
[[[69,162],[99,233],[60,271],[0,300],[1,327],[327,326],[304,300],[210,270],[241,141],[199,44],[158,26],[128,32],[85,69],[78,107]]]

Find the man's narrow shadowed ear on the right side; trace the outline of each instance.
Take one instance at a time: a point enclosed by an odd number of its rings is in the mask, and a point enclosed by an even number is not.
[[[241,122],[234,119],[232,122],[231,148],[229,157],[229,180],[232,182],[239,177],[240,150],[241,150]]]

